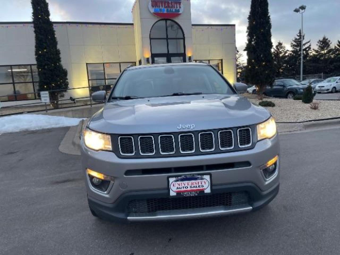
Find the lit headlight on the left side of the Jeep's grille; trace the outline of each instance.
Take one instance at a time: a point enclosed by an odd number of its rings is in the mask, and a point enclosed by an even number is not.
[[[89,129],[85,129],[84,142],[86,147],[95,151],[112,151],[110,135],[101,134]]]

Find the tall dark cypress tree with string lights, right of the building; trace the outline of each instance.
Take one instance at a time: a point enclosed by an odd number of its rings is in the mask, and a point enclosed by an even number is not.
[[[248,56],[245,80],[259,88],[260,97],[274,80],[271,28],[268,0],[252,0],[248,16],[248,42],[244,49]]]

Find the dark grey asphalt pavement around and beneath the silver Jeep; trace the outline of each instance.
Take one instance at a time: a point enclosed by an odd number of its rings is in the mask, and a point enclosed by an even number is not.
[[[88,210],[68,128],[0,135],[0,254],[340,254],[340,128],[280,135],[266,208],[204,220],[112,223]]]

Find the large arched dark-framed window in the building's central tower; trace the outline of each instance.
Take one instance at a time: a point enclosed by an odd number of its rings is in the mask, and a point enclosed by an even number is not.
[[[179,24],[161,19],[150,31],[151,61],[153,64],[185,62],[185,37]]]

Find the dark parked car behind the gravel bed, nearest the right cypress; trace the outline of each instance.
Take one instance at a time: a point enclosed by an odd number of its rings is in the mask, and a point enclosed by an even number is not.
[[[302,95],[307,85],[294,79],[275,80],[273,86],[268,86],[263,94],[269,97],[283,97],[292,99],[295,95]]]

